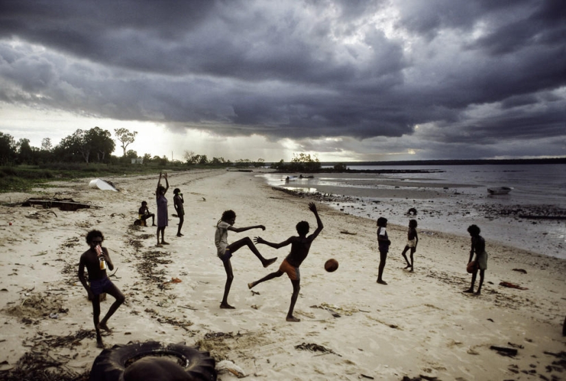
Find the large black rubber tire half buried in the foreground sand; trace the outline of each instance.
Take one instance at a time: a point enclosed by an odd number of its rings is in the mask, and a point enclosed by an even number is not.
[[[185,365],[181,365],[194,380],[216,381],[216,361],[209,352],[202,352],[185,343],[168,344],[158,341],[128,343],[104,349],[95,358],[91,369],[91,381],[123,381],[123,372],[128,362],[133,362],[152,354],[176,356]],[[132,361],[133,360],[133,361]]]

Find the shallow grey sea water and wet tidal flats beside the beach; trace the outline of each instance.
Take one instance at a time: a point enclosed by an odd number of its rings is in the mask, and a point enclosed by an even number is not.
[[[427,173],[261,174],[274,187],[328,194],[327,204],[344,213],[388,218],[392,224],[418,221],[418,231],[467,236],[477,224],[486,240],[566,259],[566,220],[525,216],[566,216],[566,165],[399,165],[355,166],[351,170],[423,170]],[[298,176],[298,174],[297,174]],[[303,174],[305,176],[305,174]],[[492,196],[488,187],[512,187]],[[416,216],[408,216],[414,207]]]

